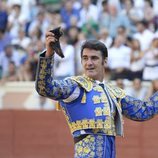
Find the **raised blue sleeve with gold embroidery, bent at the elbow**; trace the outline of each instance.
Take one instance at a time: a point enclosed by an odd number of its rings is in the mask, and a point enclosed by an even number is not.
[[[36,74],[37,92],[42,96],[54,100],[68,98],[78,87],[78,84],[69,78],[65,80],[53,80],[53,57],[46,58],[44,57],[44,53],[40,55],[38,62]]]

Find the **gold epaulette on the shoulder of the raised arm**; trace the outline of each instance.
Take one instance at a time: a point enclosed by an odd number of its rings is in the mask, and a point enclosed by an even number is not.
[[[70,77],[72,80],[77,82],[81,87],[83,87],[87,92],[91,91],[93,88],[93,82],[88,77],[84,76],[73,76]]]

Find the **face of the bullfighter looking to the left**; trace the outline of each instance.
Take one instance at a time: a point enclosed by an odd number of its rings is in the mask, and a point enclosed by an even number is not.
[[[85,48],[81,58],[84,74],[94,80],[104,78],[105,61],[100,51]]]

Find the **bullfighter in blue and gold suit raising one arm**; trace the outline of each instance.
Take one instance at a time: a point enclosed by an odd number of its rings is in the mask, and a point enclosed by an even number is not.
[[[51,44],[56,40],[53,33],[46,33],[36,89],[40,95],[59,101],[74,138],[75,158],[115,158],[115,136],[123,135],[122,116],[138,121],[152,118],[158,113],[158,92],[143,102],[104,82],[108,52],[97,40],[82,45],[83,76],[53,80]]]

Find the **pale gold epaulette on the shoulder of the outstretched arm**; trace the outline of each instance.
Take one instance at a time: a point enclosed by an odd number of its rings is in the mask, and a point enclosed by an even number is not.
[[[107,83],[106,84],[107,89],[116,97],[116,98],[124,98],[125,97],[125,91],[115,85],[113,85],[112,83]]]

